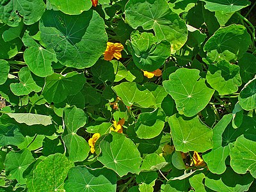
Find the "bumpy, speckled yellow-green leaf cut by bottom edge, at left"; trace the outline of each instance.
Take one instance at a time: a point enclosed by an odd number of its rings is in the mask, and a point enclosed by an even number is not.
[[[33,171],[29,191],[63,190],[64,180],[68,170],[74,166],[63,154],[54,154],[38,163]],[[47,179],[45,179],[47,178]]]

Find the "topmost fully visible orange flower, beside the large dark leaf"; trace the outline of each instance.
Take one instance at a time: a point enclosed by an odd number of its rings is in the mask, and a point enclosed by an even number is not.
[[[103,53],[104,60],[111,61],[113,60],[113,58],[116,58],[117,60],[119,60],[120,58],[122,58],[121,51],[123,49],[124,49],[124,46],[122,44],[118,44],[118,43],[114,44],[114,43],[108,42],[107,49]]]

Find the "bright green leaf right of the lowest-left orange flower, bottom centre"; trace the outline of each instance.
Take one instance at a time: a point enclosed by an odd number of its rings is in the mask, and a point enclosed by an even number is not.
[[[140,152],[134,143],[124,134],[111,131],[100,141],[101,154],[98,156],[100,163],[114,170],[120,177],[127,173],[140,172]]]

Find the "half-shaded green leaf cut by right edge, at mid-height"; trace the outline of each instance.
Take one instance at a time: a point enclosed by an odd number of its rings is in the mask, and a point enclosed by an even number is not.
[[[256,109],[256,76],[244,85],[239,93],[238,100],[244,110]]]

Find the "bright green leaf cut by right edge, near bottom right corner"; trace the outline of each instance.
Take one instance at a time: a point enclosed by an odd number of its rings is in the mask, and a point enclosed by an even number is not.
[[[230,166],[235,172],[244,174],[249,171],[256,178],[256,141],[239,136],[230,150],[230,159]]]

